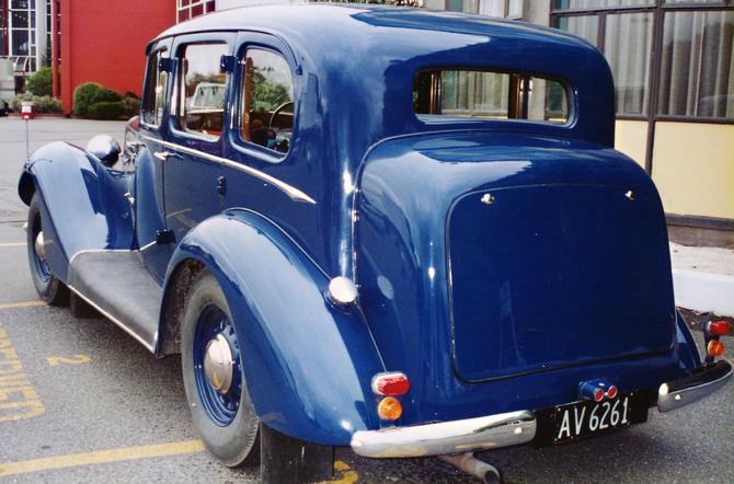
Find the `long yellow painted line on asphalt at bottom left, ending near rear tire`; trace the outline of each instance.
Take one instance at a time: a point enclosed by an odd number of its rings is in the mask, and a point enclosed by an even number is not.
[[[24,462],[0,463],[0,476],[73,468],[77,465],[129,461],[150,457],[176,456],[181,453],[200,452],[203,450],[204,445],[200,440],[187,440],[185,442],[161,443],[158,446],[130,447],[127,449],[76,453]]]

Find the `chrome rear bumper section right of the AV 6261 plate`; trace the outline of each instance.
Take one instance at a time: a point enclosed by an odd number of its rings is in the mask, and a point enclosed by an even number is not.
[[[669,412],[709,396],[723,388],[734,374],[729,361],[720,360],[695,370],[695,374],[663,383],[657,391],[657,411]]]

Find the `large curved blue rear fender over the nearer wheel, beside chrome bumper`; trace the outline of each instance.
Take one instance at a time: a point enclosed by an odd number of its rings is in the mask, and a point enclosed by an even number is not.
[[[188,232],[167,287],[192,258],[223,289],[263,422],[323,445],[348,445],[356,430],[379,427],[370,382],[385,367],[367,324],[356,306],[326,300],[329,278],[291,239],[257,215],[231,210]]]

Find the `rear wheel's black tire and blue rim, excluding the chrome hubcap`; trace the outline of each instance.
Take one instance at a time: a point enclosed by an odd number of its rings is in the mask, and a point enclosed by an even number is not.
[[[220,335],[231,350],[234,368],[231,387],[225,393],[209,381],[204,369],[208,345]],[[244,381],[229,306],[208,269],[198,275],[188,293],[181,338],[186,399],[204,446],[227,466],[257,464],[260,419]]]

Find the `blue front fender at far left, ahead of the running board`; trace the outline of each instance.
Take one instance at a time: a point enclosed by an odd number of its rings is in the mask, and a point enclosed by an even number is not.
[[[74,254],[133,247],[125,174],[81,148],[59,141],[36,150],[18,192],[26,204],[38,192],[47,262],[64,283]]]

